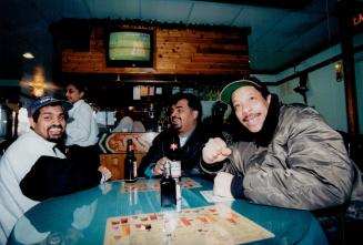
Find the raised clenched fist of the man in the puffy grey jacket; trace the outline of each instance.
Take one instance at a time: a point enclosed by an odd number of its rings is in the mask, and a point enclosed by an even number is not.
[[[226,147],[225,142],[220,137],[210,139],[202,151],[202,157],[205,163],[216,163],[231,155],[231,149]]]

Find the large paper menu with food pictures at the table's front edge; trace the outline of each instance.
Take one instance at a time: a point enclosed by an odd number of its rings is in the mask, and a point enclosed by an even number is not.
[[[274,234],[226,205],[110,217],[104,245],[243,244]]]

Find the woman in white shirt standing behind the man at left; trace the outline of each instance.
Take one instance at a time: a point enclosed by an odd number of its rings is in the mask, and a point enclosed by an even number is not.
[[[73,108],[68,112],[65,127],[67,155],[79,163],[87,164],[87,169],[99,167],[99,129],[91,106],[83,100],[84,94],[85,86],[82,83],[68,83],[65,96]]]

